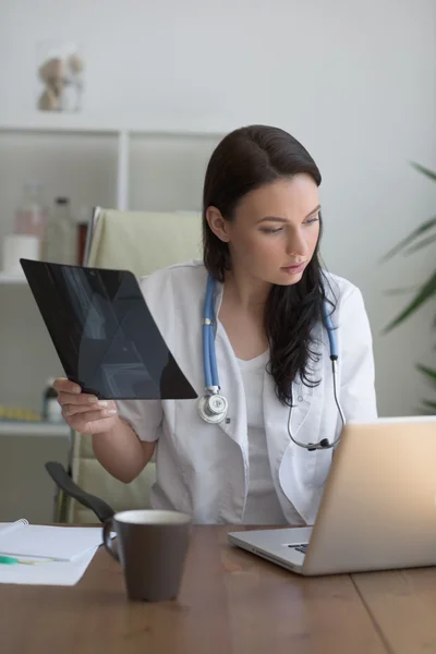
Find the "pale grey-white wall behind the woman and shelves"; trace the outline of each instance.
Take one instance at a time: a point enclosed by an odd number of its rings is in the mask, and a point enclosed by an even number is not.
[[[413,364],[428,360],[431,312],[382,337],[405,301],[384,291],[417,283],[434,261],[429,254],[385,266],[377,261],[435,213],[434,187],[408,165],[414,159],[436,168],[434,2],[39,0],[37,8],[31,0],[0,3],[0,60],[8,62],[0,68],[0,120],[33,110],[36,43],[68,38],[83,43],[89,116],[131,116],[160,129],[228,131],[266,122],[289,130],[324,175],[325,261],[359,284],[366,300],[380,413],[414,412],[425,389]],[[207,140],[167,142],[161,154],[156,141],[138,140],[132,205],[197,207],[211,147]],[[114,145],[107,137],[72,143],[0,134],[0,237],[29,175],[43,179],[50,196],[70,194],[76,207],[107,206],[114,197],[113,171]],[[10,296],[0,304],[11,312],[13,305]],[[13,329],[11,317],[0,325]],[[0,402],[20,393],[36,402],[35,371],[49,356],[38,352],[27,386],[25,368],[8,360]]]

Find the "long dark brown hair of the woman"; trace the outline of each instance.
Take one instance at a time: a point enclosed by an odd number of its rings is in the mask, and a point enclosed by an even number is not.
[[[308,152],[288,132],[267,125],[250,125],[228,134],[214,150],[206,170],[203,191],[203,256],[207,270],[223,281],[231,269],[227,243],[211,231],[206,210],[217,207],[226,220],[234,220],[239,202],[246,193],[278,179],[310,174],[319,186],[320,172]],[[291,385],[298,375],[306,386],[315,386],[310,363],[315,361],[312,329],[323,319],[324,275],[318,245],[302,279],[292,286],[274,284],[265,306],[265,330],[269,342],[268,372],[282,403],[292,403]],[[331,303],[330,303],[331,304]],[[334,306],[334,305],[332,305]]]

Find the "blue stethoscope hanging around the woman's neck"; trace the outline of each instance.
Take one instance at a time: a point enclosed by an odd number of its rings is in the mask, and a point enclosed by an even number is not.
[[[206,299],[204,304],[203,314],[203,365],[205,376],[205,389],[206,395],[203,396],[198,402],[198,412],[202,419],[209,423],[220,423],[227,416],[228,402],[226,398],[220,393],[218,368],[217,368],[217,356],[215,352],[215,334],[214,334],[214,278],[209,275],[207,278],[206,286]],[[346,424],[346,417],[343,415],[342,408],[339,402],[337,392],[337,361],[338,361],[338,348],[335,338],[335,330],[331,323],[331,318],[328,315],[326,304],[323,304],[323,317],[324,324],[327,328],[328,341],[330,346],[330,360],[331,371],[334,377],[334,396],[335,402],[339,411],[339,415],[342,422],[342,427]],[[328,449],[335,447],[340,440],[340,434],[332,443],[327,438],[323,438],[319,443],[302,443],[296,440],[292,434],[292,407],[289,409],[288,419],[288,433],[289,437],[295,445],[304,447],[308,451],[318,449]]]

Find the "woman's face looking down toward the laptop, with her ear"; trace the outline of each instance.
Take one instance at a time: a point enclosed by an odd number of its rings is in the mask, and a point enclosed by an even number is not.
[[[233,221],[214,207],[207,219],[226,241],[234,274],[274,284],[296,283],[319,237],[318,187],[311,175],[296,174],[247,193]]]

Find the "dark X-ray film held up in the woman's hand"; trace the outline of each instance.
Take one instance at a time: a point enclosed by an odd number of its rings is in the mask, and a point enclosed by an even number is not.
[[[20,263],[65,376],[83,392],[111,400],[197,397],[133,272]]]

